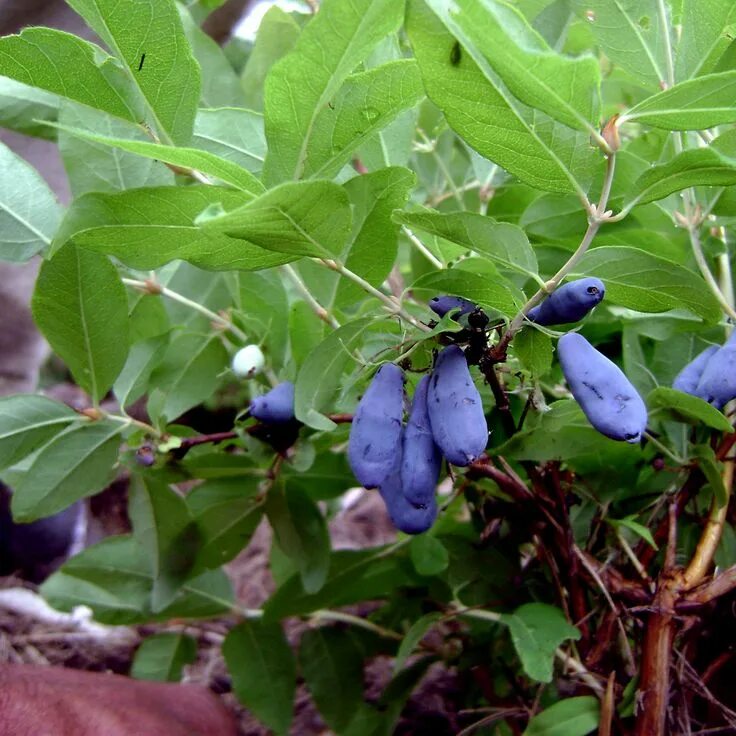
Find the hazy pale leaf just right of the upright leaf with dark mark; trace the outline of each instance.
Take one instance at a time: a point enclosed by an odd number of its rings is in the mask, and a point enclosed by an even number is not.
[[[192,18],[192,9],[177,3],[184,34],[201,70],[202,89],[199,104],[202,107],[236,105],[243,101],[240,79],[217,41],[202,30]],[[148,56],[145,59],[148,62]]]

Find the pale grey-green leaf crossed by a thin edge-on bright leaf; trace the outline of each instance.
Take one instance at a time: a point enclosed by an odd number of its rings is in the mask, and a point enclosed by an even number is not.
[[[75,197],[87,192],[119,192],[174,183],[174,173],[155,161],[143,161],[132,153],[69,132],[86,128],[111,138],[144,141],[140,126],[90,107],[70,104],[62,105],[59,122],[65,126],[63,130],[56,129],[59,153]]]

